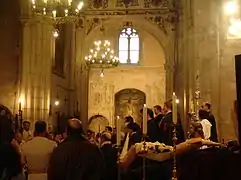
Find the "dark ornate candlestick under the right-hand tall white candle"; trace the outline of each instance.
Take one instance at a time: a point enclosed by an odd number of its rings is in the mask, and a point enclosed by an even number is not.
[[[172,169],[172,180],[177,180],[177,159],[176,159],[176,149],[177,149],[177,125],[174,123],[173,126],[173,169]]]

